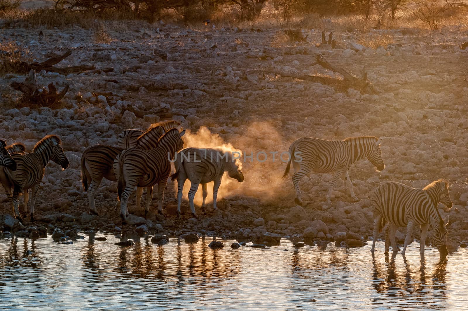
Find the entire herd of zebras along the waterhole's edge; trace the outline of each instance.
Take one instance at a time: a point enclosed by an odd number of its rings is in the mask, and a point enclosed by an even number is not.
[[[95,207],[95,191],[102,178],[115,181],[118,184],[118,201],[120,216],[123,222],[129,216],[128,199],[136,190],[136,207],[140,208],[143,188],[146,188],[145,216],[149,212],[153,197],[153,186],[157,186],[158,213],[163,212],[164,190],[171,172],[171,162],[174,162],[176,172],[170,176],[177,179],[177,217],[180,218],[183,185],[187,179],[191,186],[189,191],[190,210],[197,217],[193,204],[199,184],[202,185],[203,203],[207,197],[207,183],[213,181],[213,208],[216,209],[216,199],[221,178],[224,172],[239,182],[244,180],[240,163],[229,151],[210,148],[183,149],[183,135],[180,123],[162,121],[150,126],[146,131],[139,129],[125,130],[118,136],[118,147],[109,145],[93,145],[85,149],[81,156],[81,178],[84,190],[88,195],[89,213],[98,215]],[[291,163],[294,168],[292,182],[296,191],[295,202],[302,205],[300,180],[311,171],[319,173],[335,172],[329,185],[327,201],[331,204],[331,192],[338,181],[343,178],[351,194],[354,194],[348,174],[351,164],[368,159],[377,170],[383,170],[385,165],[380,149],[381,140],[373,136],[350,137],[345,140],[328,141],[312,137],[302,137],[294,141],[289,148],[289,161],[283,178],[288,176]],[[57,135],[45,136],[37,142],[31,153],[25,153],[22,143],[10,146],[0,140],[0,182],[11,199],[13,215],[22,220],[18,209],[18,196],[24,194],[24,213],[29,202],[28,190],[32,189],[30,217],[34,220],[34,203],[37,190],[44,176],[44,168],[51,160],[66,169],[69,162],[61,147]],[[210,156],[207,156],[207,153]],[[214,158],[213,158],[214,155]],[[197,160],[198,158],[198,160]],[[406,226],[407,235],[402,253],[406,251],[411,240],[414,226],[421,227],[421,255],[424,256],[424,243],[427,230],[434,220],[435,245],[441,257],[446,257],[447,221],[442,218],[437,209],[439,203],[452,207],[448,184],[437,180],[424,189],[412,188],[396,182],[381,184],[373,193],[372,206],[374,214],[373,246],[378,233],[385,231],[385,251],[389,243],[394,252],[397,250],[395,232],[397,227]]]

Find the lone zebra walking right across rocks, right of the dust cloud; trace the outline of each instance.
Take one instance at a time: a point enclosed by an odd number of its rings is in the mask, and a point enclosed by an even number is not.
[[[327,201],[331,204],[331,192],[338,179],[343,178],[355,201],[359,199],[354,195],[348,170],[351,164],[367,158],[377,170],[383,170],[385,165],[382,160],[382,141],[374,136],[348,137],[343,141],[327,141],[314,137],[301,137],[294,141],[289,148],[289,161],[283,178],[286,178],[291,166],[294,167],[292,183],[296,189],[294,201],[302,205],[299,189],[300,180],[312,170],[317,173],[335,172],[327,193]]]

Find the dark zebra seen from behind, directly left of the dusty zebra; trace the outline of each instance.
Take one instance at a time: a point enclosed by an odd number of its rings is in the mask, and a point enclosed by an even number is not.
[[[153,198],[153,185],[158,184],[158,212],[162,214],[164,190],[171,172],[171,162],[176,153],[183,148],[182,136],[185,130],[179,132],[173,128],[162,135],[158,148],[143,150],[138,148],[125,149],[119,156],[118,199],[120,200],[120,216],[125,222],[127,216],[127,200],[135,187],[146,187],[145,216]]]

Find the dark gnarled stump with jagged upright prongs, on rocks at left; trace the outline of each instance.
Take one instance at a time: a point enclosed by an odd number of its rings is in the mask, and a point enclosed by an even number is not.
[[[13,82],[10,86],[23,93],[20,102],[26,106],[58,108],[60,101],[68,91],[69,85],[59,93],[55,85],[51,82],[47,89],[36,83],[36,72],[31,69],[29,77],[24,82]]]

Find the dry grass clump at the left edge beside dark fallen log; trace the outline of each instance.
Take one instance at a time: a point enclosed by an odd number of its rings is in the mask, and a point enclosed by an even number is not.
[[[29,50],[13,40],[0,42],[0,51],[0,74],[2,75],[16,72],[21,62],[32,60]]]

